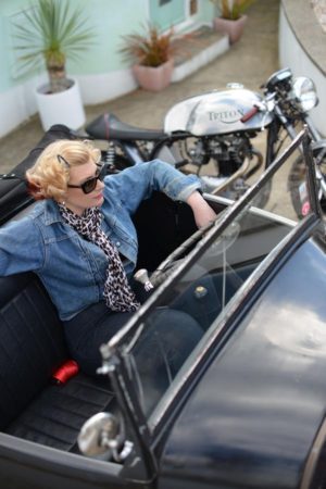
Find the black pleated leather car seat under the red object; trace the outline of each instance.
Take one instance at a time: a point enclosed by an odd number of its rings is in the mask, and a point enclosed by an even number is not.
[[[83,423],[114,403],[110,381],[78,373],[52,384],[70,355],[55,308],[33,273],[0,278],[0,429],[78,451]]]

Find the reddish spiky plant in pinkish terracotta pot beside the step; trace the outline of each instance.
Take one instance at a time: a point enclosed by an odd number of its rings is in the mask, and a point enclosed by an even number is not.
[[[133,73],[138,84],[151,91],[167,87],[171,82],[176,47],[173,43],[173,29],[160,34],[149,25],[145,34],[123,36],[124,45],[120,52],[131,60]]]

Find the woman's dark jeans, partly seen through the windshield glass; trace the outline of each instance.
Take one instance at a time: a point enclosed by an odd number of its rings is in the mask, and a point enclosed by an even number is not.
[[[96,374],[101,365],[100,346],[108,342],[131,314],[114,313],[104,302],[99,302],[65,322],[68,348],[82,371]],[[158,392],[162,394],[168,387],[202,335],[197,321],[184,311],[159,308],[151,314],[131,356],[147,411]]]

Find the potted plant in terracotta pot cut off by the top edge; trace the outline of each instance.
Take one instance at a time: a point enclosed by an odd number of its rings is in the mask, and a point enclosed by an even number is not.
[[[220,10],[220,16],[215,17],[214,28],[223,34],[227,34],[229,42],[234,43],[240,39],[244,24],[247,22],[247,15],[243,14],[251,3],[255,0],[211,0],[212,3],[217,5]]]

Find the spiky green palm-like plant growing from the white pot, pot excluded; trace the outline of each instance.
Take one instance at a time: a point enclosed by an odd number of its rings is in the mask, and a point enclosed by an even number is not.
[[[15,24],[14,48],[23,70],[32,72],[46,63],[50,91],[70,87],[66,78],[66,59],[78,59],[89,47],[95,33],[87,26],[80,9],[72,11],[67,0],[38,0],[36,7],[22,12],[24,21]]]

